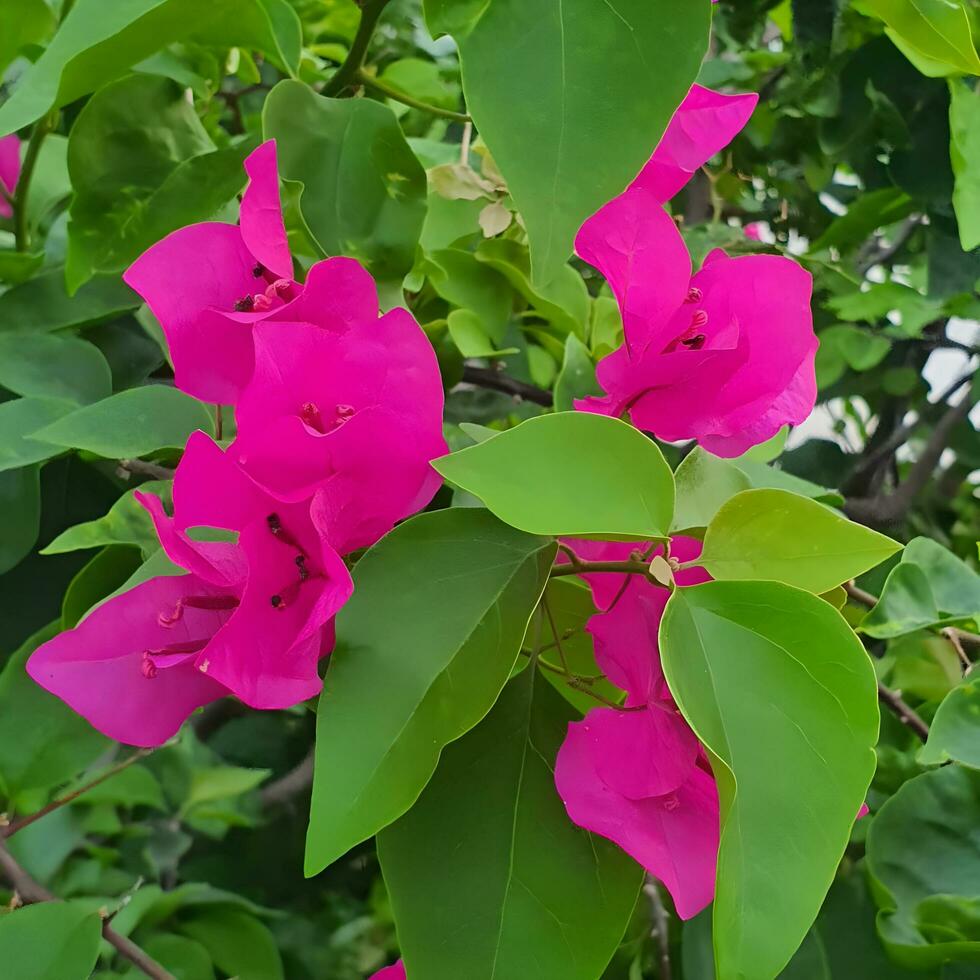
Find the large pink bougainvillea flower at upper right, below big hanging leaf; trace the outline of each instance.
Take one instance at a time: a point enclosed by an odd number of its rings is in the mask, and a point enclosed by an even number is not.
[[[605,397],[583,411],[620,416],[661,439],[696,439],[739,456],[816,401],[812,278],[782,256],[716,249],[691,276],[680,232],[642,187],[582,226],[576,250],[606,277],[623,314],[623,345],[600,361]]]

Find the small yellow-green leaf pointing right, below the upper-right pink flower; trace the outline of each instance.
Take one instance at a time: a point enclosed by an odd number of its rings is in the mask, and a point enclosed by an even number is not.
[[[711,519],[698,559],[717,579],[767,579],[828,592],[901,545],[785,490],[744,490]]]

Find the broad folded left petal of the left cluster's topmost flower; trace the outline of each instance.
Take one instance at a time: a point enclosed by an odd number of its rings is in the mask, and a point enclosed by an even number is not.
[[[254,267],[238,228],[206,222],[167,235],[123,274],[160,321],[183,391],[227,401],[247,377],[250,330],[221,314],[255,292]]]

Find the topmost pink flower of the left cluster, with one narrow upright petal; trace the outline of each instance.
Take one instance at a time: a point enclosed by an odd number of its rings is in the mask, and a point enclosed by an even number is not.
[[[123,279],[160,321],[179,388],[233,402],[252,372],[250,327],[299,292],[279,203],[276,144],[245,160],[238,225],[188,225],[148,248]]]

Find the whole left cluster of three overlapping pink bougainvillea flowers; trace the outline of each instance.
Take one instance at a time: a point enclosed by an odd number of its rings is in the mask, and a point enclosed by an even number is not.
[[[187,574],[151,579],[31,656],[43,687],[111,738],[158,745],[233,695],[288,708],[321,687],[333,617],[353,585],[343,556],[424,507],[446,452],[439,366],[406,310],[379,317],[355,261],[293,278],[276,148],[246,160],[238,225],[206,222],[146,251],[125,280],[166,335],[175,383],[235,406],[223,449],[189,439],[173,516],[137,493]],[[199,540],[193,528],[233,532]]]

